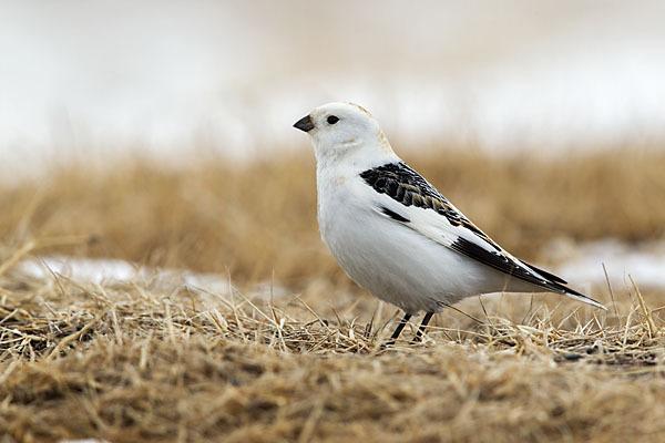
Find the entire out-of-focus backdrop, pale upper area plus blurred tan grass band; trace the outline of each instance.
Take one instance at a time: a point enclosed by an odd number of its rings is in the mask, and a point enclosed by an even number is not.
[[[659,1],[3,3],[2,238],[325,275],[313,155],[291,124],[352,101],[504,246],[571,274],[570,251],[587,251],[596,277],[607,251],[646,250],[632,271],[662,281],[663,17]]]

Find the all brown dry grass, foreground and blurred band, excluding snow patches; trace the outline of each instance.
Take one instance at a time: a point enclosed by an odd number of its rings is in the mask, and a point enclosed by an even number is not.
[[[665,155],[529,167],[472,153],[407,159],[528,259],[555,237],[664,234]],[[470,299],[464,313],[438,316],[424,343],[409,346],[410,327],[386,350],[396,309],[350,285],[321,246],[309,157],[171,172],[71,166],[0,189],[0,205],[6,441],[658,441],[665,432],[662,291],[595,288],[607,313],[556,296]],[[239,289],[34,279],[13,266],[54,253],[228,274]],[[286,296],[247,289],[272,278]]]

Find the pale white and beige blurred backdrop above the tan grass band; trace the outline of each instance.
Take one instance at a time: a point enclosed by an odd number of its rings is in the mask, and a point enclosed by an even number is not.
[[[329,101],[400,150],[590,150],[665,137],[658,1],[27,1],[0,13],[0,153],[306,145]],[[408,143],[407,143],[408,142]],[[30,162],[30,163],[31,163]],[[6,162],[2,162],[6,164]]]

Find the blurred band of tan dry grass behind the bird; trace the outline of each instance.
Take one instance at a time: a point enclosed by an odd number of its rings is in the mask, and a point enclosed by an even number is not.
[[[498,161],[472,151],[406,158],[501,245],[536,259],[556,237],[665,236],[665,154],[617,151]],[[235,281],[305,282],[338,267],[316,225],[309,152],[248,165],[203,161],[184,169],[120,162],[57,167],[0,188],[0,241],[81,236],[73,255],[222,271]],[[337,272],[338,281],[346,281]]]

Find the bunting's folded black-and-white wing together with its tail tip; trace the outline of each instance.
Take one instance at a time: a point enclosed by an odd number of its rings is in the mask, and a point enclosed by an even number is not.
[[[377,193],[385,194],[399,204],[390,202],[390,205],[377,208],[393,220],[501,272],[606,309],[597,301],[564,286],[566,281],[562,278],[510,255],[406,163],[389,163],[367,169],[360,177]]]

